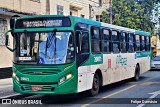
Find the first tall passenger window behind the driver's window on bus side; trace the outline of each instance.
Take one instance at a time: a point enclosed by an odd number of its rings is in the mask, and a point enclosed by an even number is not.
[[[101,52],[101,36],[99,28],[91,28],[92,53]]]

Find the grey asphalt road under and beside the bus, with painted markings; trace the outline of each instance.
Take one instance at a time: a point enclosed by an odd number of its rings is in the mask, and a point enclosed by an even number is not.
[[[148,101],[149,98],[152,102]],[[41,100],[42,104],[47,104],[47,107],[53,105],[68,107],[160,107],[160,71],[146,72],[141,75],[138,82],[129,79],[107,85],[94,97],[90,97],[88,92],[83,92],[56,96],[32,95],[16,98],[16,100],[18,99]],[[142,102],[146,103],[141,104]],[[2,106],[9,107],[11,105]]]

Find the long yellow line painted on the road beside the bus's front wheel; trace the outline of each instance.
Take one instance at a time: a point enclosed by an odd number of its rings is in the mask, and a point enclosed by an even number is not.
[[[125,88],[125,89],[123,89],[123,90],[117,91],[117,92],[115,92],[115,93],[113,93],[113,94],[104,96],[104,97],[102,97],[101,99],[91,101],[89,104],[84,104],[84,105],[82,105],[81,107],[86,107],[86,106],[88,106],[88,105],[90,105],[90,104],[93,104],[93,103],[96,103],[96,102],[98,102],[98,101],[101,101],[101,100],[103,100],[104,98],[109,98],[109,97],[111,97],[111,96],[114,96],[114,95],[119,94],[119,93],[121,93],[121,92],[124,92],[124,91],[126,91],[126,90],[129,90],[129,89],[131,89],[131,88],[133,88],[133,87],[135,87],[135,86],[136,86],[136,85],[132,85],[132,86],[127,87],[127,88]]]

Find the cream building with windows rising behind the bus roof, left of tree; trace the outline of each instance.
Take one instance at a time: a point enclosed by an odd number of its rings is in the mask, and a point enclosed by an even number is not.
[[[84,17],[102,21],[102,12],[111,0],[50,0],[49,13]]]

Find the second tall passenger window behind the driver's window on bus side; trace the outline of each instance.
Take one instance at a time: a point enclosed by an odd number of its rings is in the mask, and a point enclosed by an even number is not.
[[[111,35],[110,30],[103,29],[102,50],[104,53],[111,52]]]

